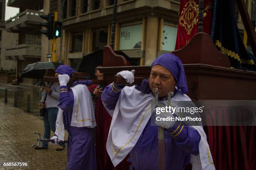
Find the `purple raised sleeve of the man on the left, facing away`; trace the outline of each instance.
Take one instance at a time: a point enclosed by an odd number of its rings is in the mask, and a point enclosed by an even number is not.
[[[62,110],[70,110],[74,105],[74,95],[72,90],[67,90],[66,85],[59,87],[59,104],[58,107]]]

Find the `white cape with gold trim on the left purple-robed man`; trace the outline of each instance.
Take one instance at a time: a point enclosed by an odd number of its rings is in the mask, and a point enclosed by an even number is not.
[[[94,128],[96,126],[92,97],[86,85],[71,87],[74,94],[74,105],[72,111],[71,126]],[[59,108],[55,134],[59,140],[64,141],[63,110]]]

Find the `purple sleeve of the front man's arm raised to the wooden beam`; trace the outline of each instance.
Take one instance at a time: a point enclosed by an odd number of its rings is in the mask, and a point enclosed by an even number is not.
[[[118,86],[114,83],[111,83],[107,87],[105,87],[104,91],[101,94],[101,100],[104,102],[104,105],[109,109],[109,110],[114,110],[116,102],[121,94],[121,90],[125,86]]]

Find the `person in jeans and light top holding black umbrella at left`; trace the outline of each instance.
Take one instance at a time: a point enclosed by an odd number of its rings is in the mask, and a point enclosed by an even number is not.
[[[57,62],[35,62],[29,64],[22,72],[22,76],[26,78],[42,79],[44,75],[54,77],[54,70],[61,65]],[[42,83],[44,84],[44,83]],[[58,100],[59,100],[59,85],[56,82],[49,83],[48,87],[44,87],[42,99],[40,102],[40,114],[44,117],[44,138],[49,139],[51,131],[56,130],[56,119],[58,115]],[[63,150],[65,143],[59,143],[60,147],[56,150]],[[42,146],[37,146],[35,149],[47,149],[48,142],[44,142]]]

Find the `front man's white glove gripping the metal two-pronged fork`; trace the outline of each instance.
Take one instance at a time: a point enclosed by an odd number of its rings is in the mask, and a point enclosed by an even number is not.
[[[172,117],[172,120],[171,120]],[[168,120],[160,120],[160,118],[165,118]],[[157,121],[160,120],[160,121]],[[171,128],[175,123],[175,117],[172,115],[171,112],[161,112],[160,114],[155,115],[155,124],[158,126],[161,126],[162,128],[169,129]]]

